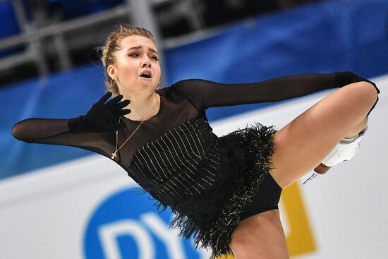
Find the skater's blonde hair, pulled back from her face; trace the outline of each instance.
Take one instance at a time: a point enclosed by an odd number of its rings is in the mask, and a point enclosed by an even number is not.
[[[145,28],[138,28],[132,25],[120,24],[114,29],[111,34],[107,37],[105,41],[104,47],[102,47],[102,64],[105,68],[105,76],[106,81],[105,85],[107,86],[107,90],[112,92],[114,95],[119,95],[119,88],[117,87],[117,83],[114,78],[111,78],[107,73],[107,68],[109,65],[114,64],[116,61],[116,52],[120,49],[120,42],[123,38],[131,36],[131,35],[139,35],[143,37],[147,37],[152,40],[156,45],[154,40],[154,36],[152,33]]]

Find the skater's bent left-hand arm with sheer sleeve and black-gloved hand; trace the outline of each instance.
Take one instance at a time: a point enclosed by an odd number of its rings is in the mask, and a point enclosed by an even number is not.
[[[128,114],[122,109],[129,104],[128,100],[120,102],[122,96],[116,96],[105,103],[111,93],[108,92],[96,102],[85,116],[73,119],[25,119],[12,128],[12,135],[27,143],[70,145],[97,151],[102,147],[106,133],[125,127],[117,124],[117,118]]]

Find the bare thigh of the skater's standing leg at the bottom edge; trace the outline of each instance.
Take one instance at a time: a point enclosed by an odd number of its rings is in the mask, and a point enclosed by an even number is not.
[[[233,232],[229,246],[236,259],[289,258],[279,210],[243,219]]]

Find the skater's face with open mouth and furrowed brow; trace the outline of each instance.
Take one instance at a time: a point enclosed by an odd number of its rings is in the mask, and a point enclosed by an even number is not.
[[[107,71],[123,92],[153,92],[159,83],[160,66],[154,42],[147,37],[123,38],[116,61]]]

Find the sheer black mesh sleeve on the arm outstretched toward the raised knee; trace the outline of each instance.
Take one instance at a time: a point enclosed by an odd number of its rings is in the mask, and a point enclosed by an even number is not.
[[[173,88],[186,95],[198,109],[277,102],[335,88],[335,73],[284,76],[260,83],[224,84],[208,80],[181,80]]]

